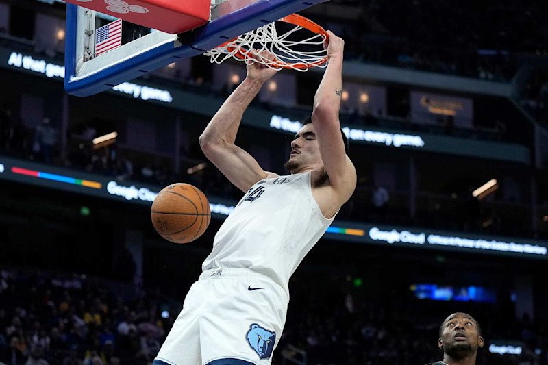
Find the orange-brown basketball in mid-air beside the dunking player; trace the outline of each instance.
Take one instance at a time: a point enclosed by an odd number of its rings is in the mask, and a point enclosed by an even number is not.
[[[154,199],[152,224],[158,234],[175,243],[196,240],[208,228],[211,220],[210,203],[206,195],[190,184],[166,186]]]

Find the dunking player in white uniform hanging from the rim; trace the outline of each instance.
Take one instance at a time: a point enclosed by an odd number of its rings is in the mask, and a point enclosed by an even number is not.
[[[329,32],[325,47],[329,64],[312,118],[291,142],[290,175],[263,171],[234,145],[244,111],[276,70],[248,64],[246,79],[201,135],[208,159],[245,195],[217,232],[153,365],[271,363],[286,320],[289,277],[356,188],[338,121],[344,41]]]

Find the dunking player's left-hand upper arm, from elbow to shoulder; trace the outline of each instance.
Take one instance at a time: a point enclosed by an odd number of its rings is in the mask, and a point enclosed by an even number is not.
[[[247,192],[257,181],[277,177],[275,173],[264,171],[249,153],[235,144],[200,142],[200,147],[208,160],[243,192]]]

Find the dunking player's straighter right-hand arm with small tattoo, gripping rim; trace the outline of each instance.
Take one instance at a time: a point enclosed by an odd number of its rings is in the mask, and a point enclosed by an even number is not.
[[[316,131],[321,160],[329,182],[340,195],[342,203],[347,201],[356,188],[356,169],[347,157],[343,137],[340,135],[340,95],[343,92],[342,38],[329,34],[327,58],[329,64],[314,96],[312,125]]]

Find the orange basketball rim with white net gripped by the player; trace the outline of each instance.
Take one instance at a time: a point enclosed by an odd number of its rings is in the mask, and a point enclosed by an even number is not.
[[[212,63],[234,58],[238,61],[259,62],[269,68],[292,68],[307,71],[311,67],[327,66],[327,49],[323,48],[329,38],[325,29],[304,16],[290,14],[279,22],[295,25],[284,34],[278,34],[275,22],[233,38],[206,53]],[[308,33],[303,36],[303,32]],[[295,37],[301,37],[297,40]],[[305,39],[302,39],[305,38]],[[257,52],[251,52],[255,50]],[[275,60],[269,60],[261,51],[269,51]]]

